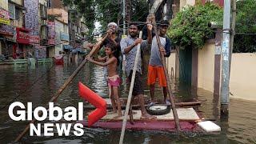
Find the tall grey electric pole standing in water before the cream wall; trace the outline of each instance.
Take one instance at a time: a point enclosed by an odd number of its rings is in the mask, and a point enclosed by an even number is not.
[[[228,116],[230,103],[230,0],[224,1],[222,37],[221,116]]]

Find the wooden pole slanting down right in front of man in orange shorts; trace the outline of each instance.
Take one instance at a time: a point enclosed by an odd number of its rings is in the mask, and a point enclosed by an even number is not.
[[[154,18],[153,18],[153,24],[154,24],[155,36],[156,36],[157,42],[158,42],[158,49],[160,51],[160,47],[162,45],[161,45],[161,42],[160,42],[160,38],[159,38],[159,35],[158,35],[158,29],[157,29],[156,22],[155,22]],[[177,128],[178,132],[180,132],[181,131],[181,127],[179,126],[178,114],[177,114],[177,111],[176,111],[176,108],[175,108],[173,94],[171,93],[171,90],[170,90],[170,78],[169,78],[169,74],[168,74],[168,71],[167,71],[167,68],[166,68],[166,58],[164,57],[164,53],[163,52],[160,51],[160,54],[161,54],[163,70],[165,71],[165,75],[166,75],[167,90],[168,90],[168,94],[169,94],[169,98],[170,98],[170,103],[171,103],[171,107],[172,107],[173,114],[174,114],[174,120],[175,120],[176,128]]]

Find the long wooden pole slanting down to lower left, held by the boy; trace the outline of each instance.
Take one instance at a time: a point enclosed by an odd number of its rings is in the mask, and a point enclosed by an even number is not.
[[[108,34],[106,34],[106,36],[105,36],[104,38],[102,38],[102,39],[103,39],[102,41],[104,41],[104,40],[107,38],[107,36],[108,36]],[[102,41],[98,42],[97,45],[100,45],[100,44],[102,43]],[[96,46],[97,46],[97,45],[96,45]],[[87,62],[87,59],[84,59],[84,60],[82,61],[82,63],[81,63],[81,64],[78,66],[78,68],[73,72],[73,74],[70,75],[70,78],[68,78],[68,79],[66,80],[66,82],[62,85],[62,87],[58,90],[57,94],[55,94],[52,98],[50,98],[50,102],[54,102],[54,101],[58,98],[58,96],[59,96],[60,94],[62,94],[62,91],[66,89],[66,86],[68,86],[68,85],[70,84],[70,82],[74,79],[74,77],[78,74],[78,72],[79,72],[80,70],[82,70],[82,67],[85,66],[86,62]],[[48,102],[48,103],[49,103],[49,102]],[[42,114],[42,111],[40,111],[38,115],[41,115],[41,114]],[[30,123],[34,123],[34,122],[36,122],[36,121],[37,121],[37,120],[34,118]],[[28,125],[26,126],[26,128],[22,131],[21,134],[18,135],[18,137],[15,139],[14,142],[18,142],[18,141],[26,134],[26,132],[27,132],[28,130],[30,130],[30,124],[28,124]]]

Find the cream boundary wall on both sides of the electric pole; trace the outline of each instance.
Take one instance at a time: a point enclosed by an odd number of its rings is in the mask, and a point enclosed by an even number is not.
[[[230,97],[256,100],[256,54],[232,54]],[[198,87],[214,91],[214,43],[198,51]]]

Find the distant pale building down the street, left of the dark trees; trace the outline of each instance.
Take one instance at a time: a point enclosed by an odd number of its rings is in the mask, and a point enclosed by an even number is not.
[[[52,47],[52,50],[49,50],[49,55],[55,58],[63,58],[64,63],[77,62],[77,50],[74,49],[75,46],[73,45],[75,36],[73,37],[70,34],[74,27],[70,27],[70,14],[67,8],[63,6],[61,0],[49,0],[48,14],[55,24],[55,46]]]

